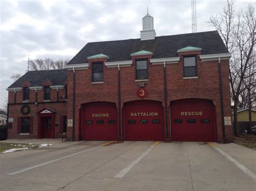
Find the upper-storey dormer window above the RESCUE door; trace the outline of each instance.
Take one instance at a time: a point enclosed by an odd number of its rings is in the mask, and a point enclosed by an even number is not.
[[[184,77],[197,76],[196,56],[184,57]]]

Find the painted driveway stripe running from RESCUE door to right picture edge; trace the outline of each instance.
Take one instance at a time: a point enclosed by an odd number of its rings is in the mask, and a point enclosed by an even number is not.
[[[237,160],[235,160],[234,158],[232,158],[229,154],[225,153],[223,150],[221,150],[220,148],[218,148],[217,146],[215,146],[213,143],[208,143],[210,146],[212,146],[213,148],[215,148],[215,150],[217,150],[220,154],[224,155],[224,157],[226,157],[228,160],[230,160],[231,162],[233,162],[233,164],[235,164],[238,168],[241,169],[242,172],[244,172],[245,174],[247,174],[248,176],[250,176],[254,181],[256,181],[256,174],[253,173],[252,171],[250,171],[248,168],[246,168],[244,165],[242,165],[240,162],[238,162]]]

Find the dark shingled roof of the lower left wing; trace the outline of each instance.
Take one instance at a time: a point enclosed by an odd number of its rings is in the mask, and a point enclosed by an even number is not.
[[[31,86],[43,86],[46,79],[51,81],[52,86],[64,85],[66,77],[66,69],[29,71],[8,88],[21,87],[25,81],[28,81]]]

